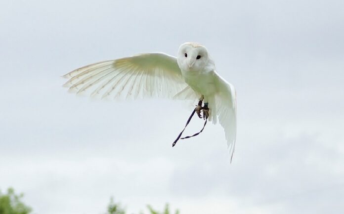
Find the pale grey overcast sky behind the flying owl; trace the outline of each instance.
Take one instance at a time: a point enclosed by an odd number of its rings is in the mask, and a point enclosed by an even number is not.
[[[344,212],[343,0],[0,1],[0,189],[35,214]],[[173,140],[182,101],[67,93],[86,64],[204,44],[237,90],[232,164],[219,125]],[[191,134],[202,122],[192,121]]]

